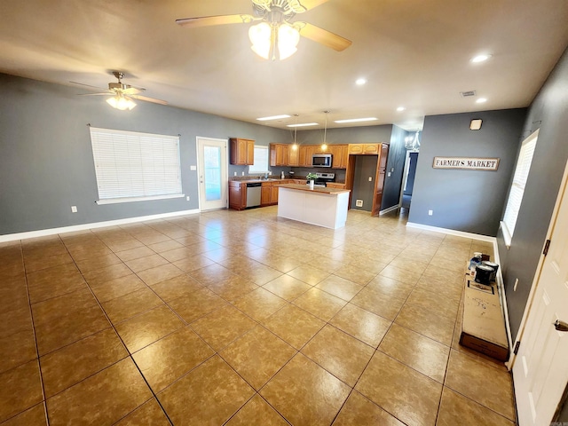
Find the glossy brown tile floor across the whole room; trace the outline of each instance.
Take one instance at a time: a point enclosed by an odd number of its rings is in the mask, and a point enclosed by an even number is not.
[[[513,425],[461,348],[487,243],[221,210],[0,245],[0,422]]]

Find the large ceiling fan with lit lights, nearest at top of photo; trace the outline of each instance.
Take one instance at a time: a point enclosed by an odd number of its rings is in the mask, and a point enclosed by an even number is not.
[[[260,21],[248,30],[252,50],[264,59],[286,59],[296,52],[300,36],[323,44],[335,51],[343,51],[351,40],[316,27],[308,22],[291,20],[297,13],[313,9],[328,0],[252,0],[254,15],[201,16],[176,20],[178,25],[198,28],[224,24],[248,24]]]

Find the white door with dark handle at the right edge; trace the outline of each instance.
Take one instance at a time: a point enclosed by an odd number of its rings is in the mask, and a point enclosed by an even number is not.
[[[568,323],[567,175],[568,165],[548,228],[548,255],[533,284],[533,304],[513,365],[520,426],[550,424],[568,383],[568,331],[554,325],[556,320]]]

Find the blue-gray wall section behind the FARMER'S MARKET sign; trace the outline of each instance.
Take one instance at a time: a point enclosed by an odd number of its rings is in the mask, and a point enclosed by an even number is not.
[[[408,221],[497,235],[525,114],[522,108],[427,116]],[[477,118],[481,130],[469,130]],[[441,170],[432,168],[435,156],[497,157],[501,163],[497,171]]]

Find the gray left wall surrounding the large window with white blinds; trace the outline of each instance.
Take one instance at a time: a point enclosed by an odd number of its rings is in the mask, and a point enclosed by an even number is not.
[[[118,111],[80,88],[0,75],[0,234],[198,208],[197,136],[288,140],[286,130],[138,102]],[[97,205],[92,126],[180,136],[183,199]],[[241,168],[230,167],[229,174]],[[240,173],[239,173],[240,174]],[[71,213],[71,206],[78,212]]]

